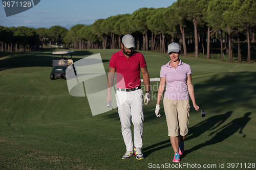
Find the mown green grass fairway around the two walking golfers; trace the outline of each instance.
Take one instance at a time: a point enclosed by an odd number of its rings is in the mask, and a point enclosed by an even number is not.
[[[151,82],[152,101],[143,107],[145,159],[122,160],[117,109],[92,116],[86,97],[71,96],[64,79],[50,80],[58,50],[0,53],[0,169],[174,169],[162,101],[162,116],[155,115],[159,82]],[[117,51],[75,51],[74,61],[100,53],[107,72]],[[150,77],[159,77],[168,55],[142,53]],[[183,169],[256,169],[256,65],[180,59],[191,66],[206,112],[190,109]]]

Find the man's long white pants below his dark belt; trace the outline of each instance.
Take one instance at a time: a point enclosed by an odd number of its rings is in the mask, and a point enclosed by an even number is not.
[[[131,92],[116,91],[116,100],[126,150],[133,151],[131,119],[134,125],[134,147],[142,148],[144,121],[142,90],[138,89]]]

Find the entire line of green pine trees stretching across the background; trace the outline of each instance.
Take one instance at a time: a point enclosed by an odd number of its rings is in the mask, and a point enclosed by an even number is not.
[[[255,0],[178,0],[167,8],[140,8],[133,14],[98,19],[92,25],[75,25],[67,30],[60,26],[27,28],[0,26],[0,50],[17,52],[28,46],[65,43],[73,49],[121,48],[121,38],[132,34],[136,50],[167,52],[167,45],[178,42],[182,53],[194,51],[199,57],[206,49],[207,58],[216,42],[232,61],[234,40],[237,41],[238,62],[242,60],[241,42],[248,44],[247,61],[251,62],[251,41],[255,41]],[[21,48],[19,48],[21,47]]]

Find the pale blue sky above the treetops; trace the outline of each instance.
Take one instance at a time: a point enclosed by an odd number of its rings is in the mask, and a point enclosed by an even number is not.
[[[6,0],[8,1],[8,0]],[[11,0],[9,0],[11,2]],[[5,27],[62,26],[70,28],[77,23],[90,25],[97,19],[105,19],[118,14],[132,14],[146,8],[171,6],[177,0],[130,0],[130,1],[87,1],[87,0],[41,0],[35,7],[22,13],[6,17],[4,7],[0,7],[0,25]]]

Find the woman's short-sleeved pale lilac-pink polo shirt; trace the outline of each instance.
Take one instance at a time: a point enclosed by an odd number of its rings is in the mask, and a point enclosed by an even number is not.
[[[172,100],[187,100],[189,99],[187,91],[187,75],[191,74],[191,68],[188,64],[180,63],[176,69],[167,64],[161,67],[160,77],[166,78],[166,89],[164,96]]]

